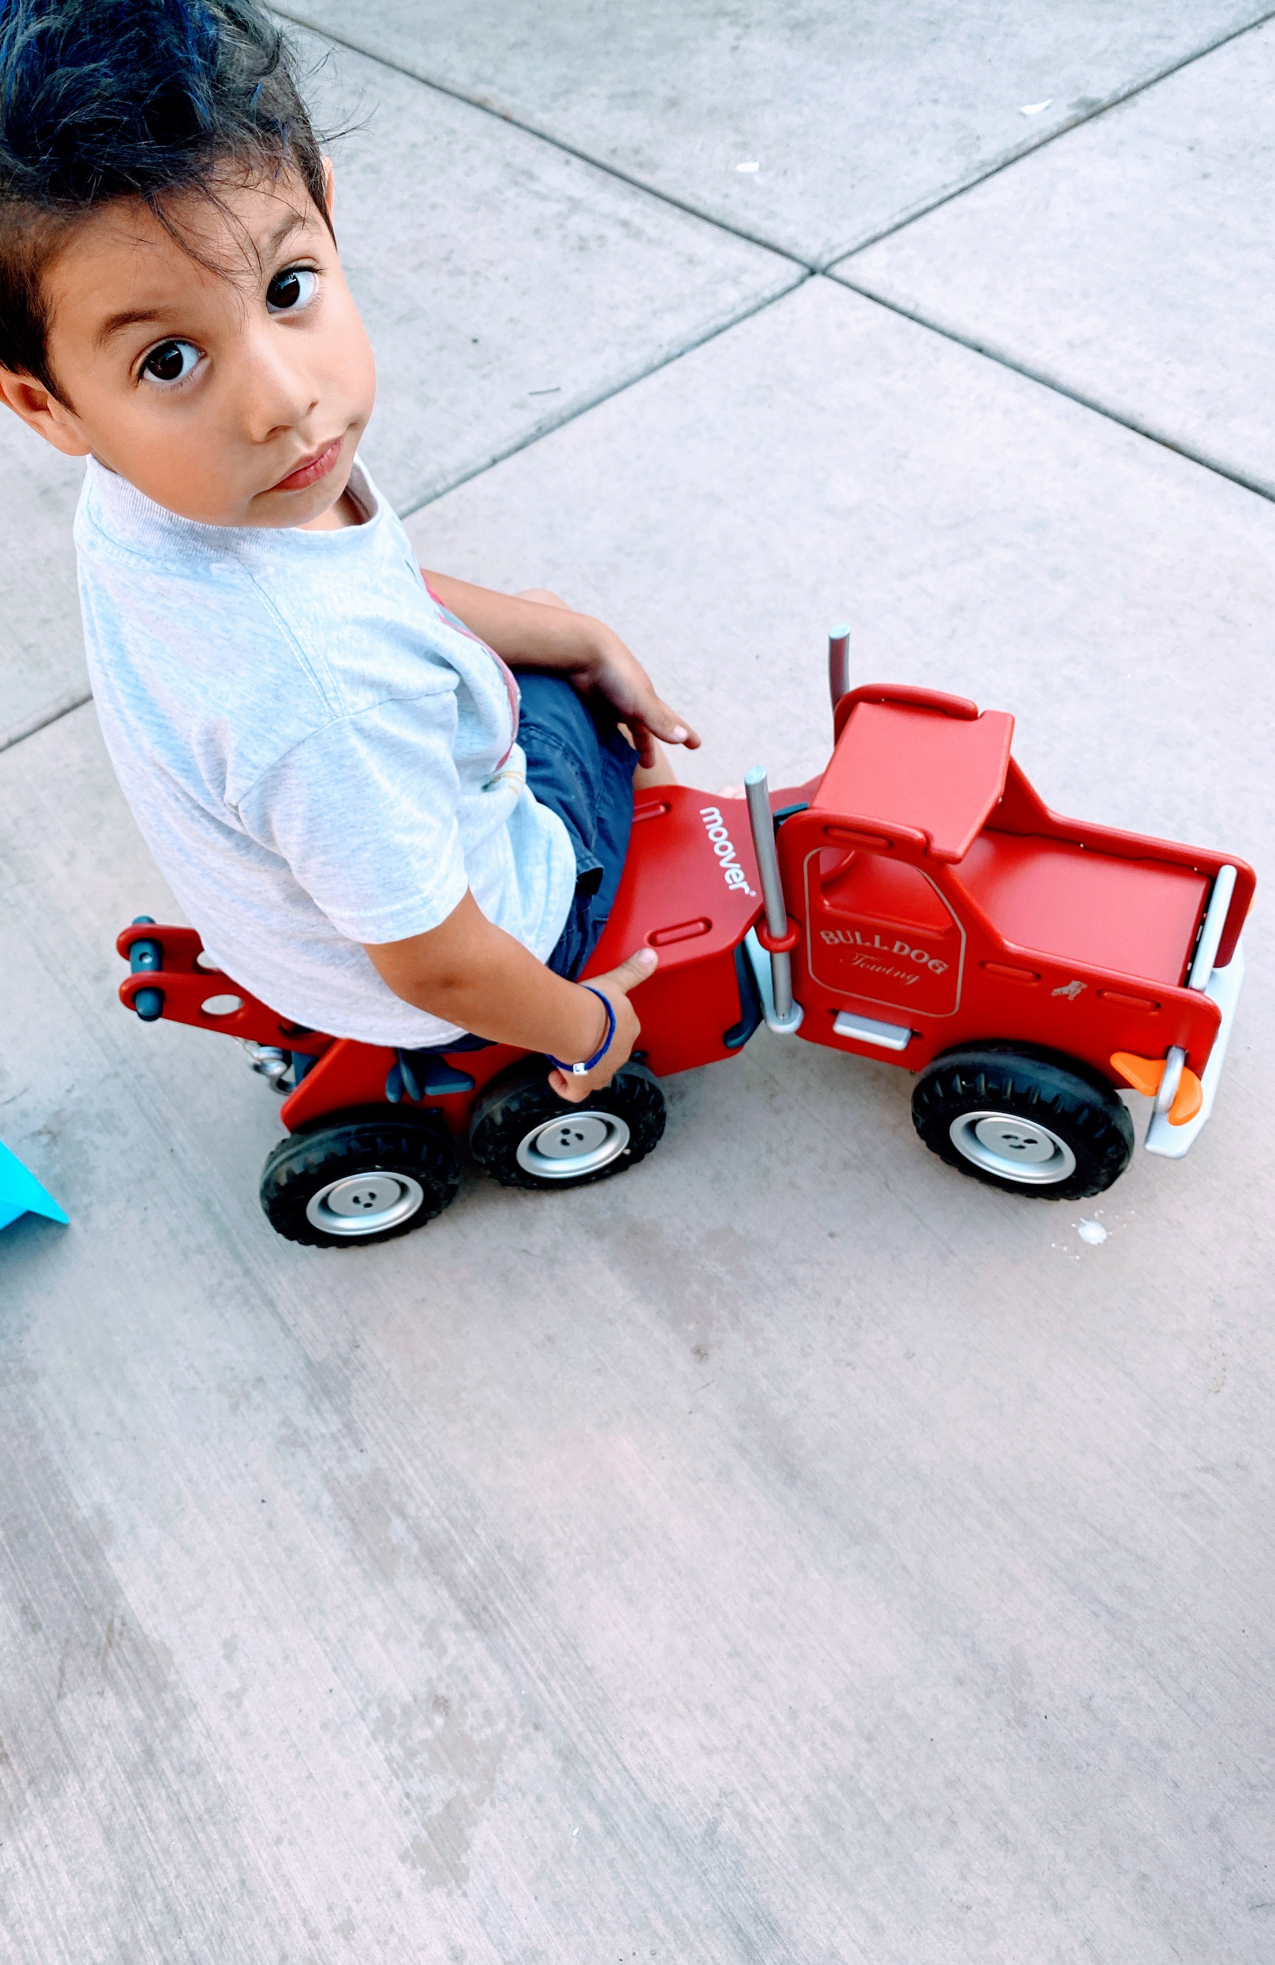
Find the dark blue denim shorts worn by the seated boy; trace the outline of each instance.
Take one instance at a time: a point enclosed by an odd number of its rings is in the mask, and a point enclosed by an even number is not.
[[[527,782],[558,814],[576,853],[576,894],[548,957],[554,975],[574,979],[601,939],[625,870],[637,751],[599,723],[562,676],[527,668],[515,674]]]

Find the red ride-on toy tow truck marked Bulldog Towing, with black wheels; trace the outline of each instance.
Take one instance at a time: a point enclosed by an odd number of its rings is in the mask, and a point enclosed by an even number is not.
[[[261,1205],[293,1242],[405,1234],[456,1195],[466,1136],[507,1187],[637,1165],[660,1079],[735,1057],[762,1022],[917,1073],[915,1130],[949,1165],[1041,1199],[1126,1169],[1118,1091],[1153,1100],[1145,1146],[1181,1157],[1208,1118],[1244,977],[1251,869],[1234,855],[1061,819],[1010,757],[1014,719],[935,690],[849,688],[829,643],[825,772],[747,802],[638,792],[619,896],[585,975],[640,943],[640,1053],[583,1106],[538,1055],[391,1051],[289,1024],[210,969],[189,927],[120,935],[122,1000],[248,1041],[287,1093]]]

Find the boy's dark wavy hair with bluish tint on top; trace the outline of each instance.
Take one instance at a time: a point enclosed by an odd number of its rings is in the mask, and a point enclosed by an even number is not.
[[[69,232],[141,198],[218,200],[226,169],[324,171],[291,51],[253,0],[0,0],[0,367],[55,395],[41,275]]]

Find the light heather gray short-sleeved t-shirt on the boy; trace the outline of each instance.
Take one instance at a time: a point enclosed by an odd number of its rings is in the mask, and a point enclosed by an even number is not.
[[[466,888],[542,961],[576,859],[527,788],[517,686],[428,591],[365,470],[334,533],[177,519],[88,462],[88,674],[145,841],[222,969],[281,1016],[405,1047],[456,1036],[363,941]]]

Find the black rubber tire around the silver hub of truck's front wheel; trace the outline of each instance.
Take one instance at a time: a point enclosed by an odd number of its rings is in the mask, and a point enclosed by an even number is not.
[[[990,1108],[1037,1120],[1077,1157],[1049,1183],[1002,1179],[967,1159],[951,1138],[965,1112]],[[1031,1201],[1079,1201],[1118,1181],[1134,1151],[1134,1122],[1110,1085],[1075,1059],[1031,1055],[1016,1045],[980,1043],[935,1057],[912,1095],[912,1122],[931,1153],[986,1187]]]

